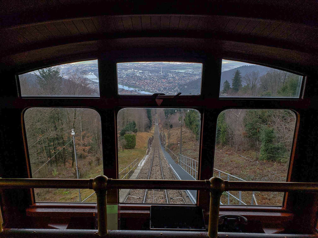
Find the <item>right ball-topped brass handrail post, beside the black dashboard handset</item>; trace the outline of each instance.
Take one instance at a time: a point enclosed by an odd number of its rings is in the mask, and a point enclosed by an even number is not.
[[[210,238],[218,237],[218,217],[220,211],[220,198],[225,191],[224,180],[220,177],[210,178],[210,212],[208,236]]]

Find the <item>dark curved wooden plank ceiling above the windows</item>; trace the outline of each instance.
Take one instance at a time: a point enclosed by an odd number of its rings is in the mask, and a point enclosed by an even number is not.
[[[156,47],[160,39],[192,50],[219,48],[309,65],[316,64],[318,55],[316,1],[161,1],[153,6],[14,0],[2,6],[0,62],[6,65],[93,51],[101,44],[104,50],[105,45],[121,49],[143,42]],[[119,39],[126,39],[126,45]]]

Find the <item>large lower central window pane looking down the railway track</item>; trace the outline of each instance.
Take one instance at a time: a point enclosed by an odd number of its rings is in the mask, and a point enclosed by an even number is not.
[[[194,109],[121,109],[117,116],[119,178],[196,180],[200,118]],[[121,189],[119,195],[120,202],[128,203],[195,204],[197,200],[196,190]]]

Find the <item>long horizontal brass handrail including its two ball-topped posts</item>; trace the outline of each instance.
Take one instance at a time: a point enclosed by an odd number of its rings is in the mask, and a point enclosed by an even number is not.
[[[220,177],[210,180],[139,180],[108,179],[99,175],[94,179],[0,179],[0,188],[89,188],[97,195],[98,234],[106,236],[107,230],[107,189],[188,189],[210,190],[208,236],[218,237],[218,215],[220,197],[224,191],[264,192],[318,192],[318,183],[304,182],[245,182],[227,181]]]

